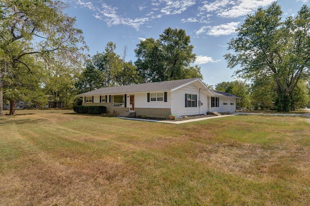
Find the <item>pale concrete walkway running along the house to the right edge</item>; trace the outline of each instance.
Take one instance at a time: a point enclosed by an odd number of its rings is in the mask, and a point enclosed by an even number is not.
[[[174,125],[179,125],[183,123],[188,123],[188,122],[197,122],[197,121],[202,121],[202,120],[207,120],[207,119],[215,119],[215,118],[222,118],[222,117],[228,117],[228,116],[234,116],[234,115],[274,115],[274,116],[305,116],[310,118],[310,109],[306,109],[309,111],[309,113],[306,114],[288,114],[288,113],[251,113],[251,112],[234,112],[232,114],[225,114],[225,115],[219,115],[219,116],[214,116],[214,117],[202,117],[198,119],[189,119],[189,120],[183,120],[183,121],[166,121],[166,120],[152,120],[152,119],[140,119],[140,118],[129,118],[129,117],[117,117],[120,119],[128,119],[128,120],[136,120],[136,121],[144,121],[144,122],[159,122],[159,123],[167,123],[167,124],[174,124]]]

